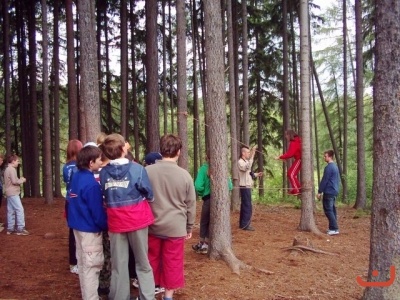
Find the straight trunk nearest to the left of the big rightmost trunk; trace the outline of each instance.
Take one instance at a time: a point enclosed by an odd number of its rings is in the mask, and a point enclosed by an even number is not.
[[[361,0],[355,0],[356,15],[356,107],[357,107],[357,198],[354,208],[365,208],[367,204],[365,184],[365,142],[364,142],[364,66],[362,49],[362,7]]]

